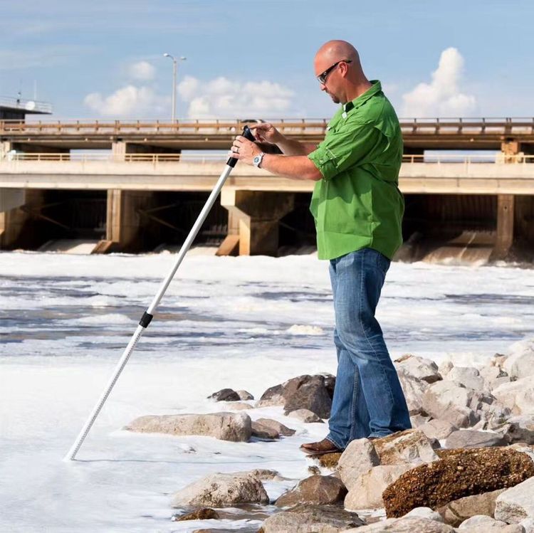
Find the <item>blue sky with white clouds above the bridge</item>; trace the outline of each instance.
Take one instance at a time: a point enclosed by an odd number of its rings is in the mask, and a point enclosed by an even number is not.
[[[534,116],[525,0],[0,0],[0,96],[56,119],[323,118],[313,72],[332,38],[360,51],[400,117]],[[36,94],[35,94],[36,93]]]

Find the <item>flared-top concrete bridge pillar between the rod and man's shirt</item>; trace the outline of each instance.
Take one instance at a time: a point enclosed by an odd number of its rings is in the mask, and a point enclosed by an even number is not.
[[[278,222],[293,211],[295,195],[223,189],[221,206],[229,211],[229,228],[239,221],[239,255],[276,255]]]

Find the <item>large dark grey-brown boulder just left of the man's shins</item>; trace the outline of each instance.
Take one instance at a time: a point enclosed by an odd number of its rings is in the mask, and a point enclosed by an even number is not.
[[[280,405],[286,414],[299,409],[308,409],[319,418],[329,418],[334,385],[335,378],[330,374],[326,376],[305,374],[267,389],[256,403],[256,407]]]

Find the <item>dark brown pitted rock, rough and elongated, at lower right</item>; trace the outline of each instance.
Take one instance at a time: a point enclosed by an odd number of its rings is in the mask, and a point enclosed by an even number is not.
[[[534,475],[528,455],[508,448],[444,450],[440,456],[439,461],[409,470],[384,490],[388,517],[401,517],[414,507],[436,509],[461,497],[513,487]]]

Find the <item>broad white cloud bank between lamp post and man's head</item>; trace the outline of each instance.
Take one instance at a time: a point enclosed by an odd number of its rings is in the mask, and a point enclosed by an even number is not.
[[[294,95],[278,83],[241,83],[224,77],[201,82],[187,76],[178,91],[189,104],[191,118],[276,118],[290,111]]]

